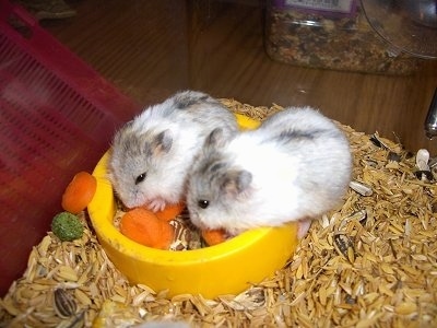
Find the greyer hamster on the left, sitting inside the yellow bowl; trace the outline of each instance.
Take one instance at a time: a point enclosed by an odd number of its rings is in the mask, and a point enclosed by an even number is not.
[[[178,92],[126,124],[114,137],[108,162],[123,204],[158,211],[184,200],[188,171],[215,128],[238,130],[231,110],[196,91]]]

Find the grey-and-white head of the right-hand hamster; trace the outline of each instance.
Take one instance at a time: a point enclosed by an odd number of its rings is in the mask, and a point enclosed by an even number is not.
[[[206,138],[190,172],[187,207],[191,222],[199,229],[224,229],[237,234],[235,222],[229,220],[238,215],[238,203],[250,195],[252,175],[221,152],[223,142],[220,128]]]

